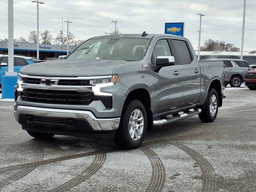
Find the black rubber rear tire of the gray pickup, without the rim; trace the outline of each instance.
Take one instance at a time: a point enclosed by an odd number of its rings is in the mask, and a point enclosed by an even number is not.
[[[212,98],[213,95],[215,95],[216,102],[217,102],[216,112],[215,112],[214,115],[212,115],[210,113],[210,104],[211,104],[211,98]],[[207,95],[207,98],[206,98],[206,101],[205,101],[204,105],[201,106],[202,112],[200,114],[198,114],[200,120],[202,122],[213,122],[216,119],[217,114],[218,114],[218,106],[219,106],[218,93],[214,88],[212,88],[208,92],[208,95]]]

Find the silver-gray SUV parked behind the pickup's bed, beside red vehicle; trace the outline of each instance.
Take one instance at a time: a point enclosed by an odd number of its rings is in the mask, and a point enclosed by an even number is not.
[[[246,60],[240,59],[206,59],[223,61],[225,64],[225,87],[230,84],[231,87],[240,87],[244,82],[246,72],[250,70]]]

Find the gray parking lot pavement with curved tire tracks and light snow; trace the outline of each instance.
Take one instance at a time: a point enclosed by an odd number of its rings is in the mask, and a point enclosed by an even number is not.
[[[28,136],[0,102],[3,192],[255,192],[256,92],[226,88],[212,123],[194,116],[148,130],[142,146],[111,140]]]

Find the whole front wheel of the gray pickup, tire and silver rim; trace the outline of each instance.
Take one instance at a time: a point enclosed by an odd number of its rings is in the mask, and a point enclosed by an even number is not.
[[[147,112],[139,100],[130,100],[124,106],[121,121],[114,138],[119,148],[134,149],[143,142],[147,130]]]

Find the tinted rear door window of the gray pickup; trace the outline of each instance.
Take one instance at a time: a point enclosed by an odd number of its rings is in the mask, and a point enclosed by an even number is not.
[[[192,58],[188,50],[188,46],[185,41],[172,40],[174,43],[174,48],[176,50],[180,64],[188,64],[191,62]]]

